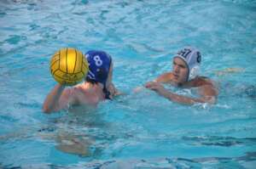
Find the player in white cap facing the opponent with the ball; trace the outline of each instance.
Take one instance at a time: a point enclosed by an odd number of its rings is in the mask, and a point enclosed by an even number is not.
[[[154,90],[171,101],[182,104],[210,103],[214,104],[218,89],[207,77],[199,76],[201,54],[193,47],[185,47],[173,58],[172,71],[160,75],[154,82],[147,82],[145,87]],[[167,90],[161,83],[169,83],[177,87],[197,87],[199,98],[190,98]]]

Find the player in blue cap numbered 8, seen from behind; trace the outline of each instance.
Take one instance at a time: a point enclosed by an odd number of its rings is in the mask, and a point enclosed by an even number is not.
[[[45,113],[68,109],[72,105],[95,107],[104,99],[113,99],[118,90],[112,82],[113,61],[103,51],[90,50],[85,54],[89,72],[85,81],[73,87],[57,84],[44,101]]]

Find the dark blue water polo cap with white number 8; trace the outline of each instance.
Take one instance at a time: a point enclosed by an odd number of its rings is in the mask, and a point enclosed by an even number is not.
[[[105,87],[112,62],[111,56],[104,51],[90,50],[85,54],[85,57],[89,63],[86,79],[101,82]]]

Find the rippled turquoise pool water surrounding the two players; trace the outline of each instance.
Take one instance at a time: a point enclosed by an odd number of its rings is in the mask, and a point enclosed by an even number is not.
[[[0,168],[254,168],[255,37],[256,1],[2,0]],[[201,74],[218,82],[217,104],[132,93],[171,70],[187,45],[201,50]],[[49,59],[64,47],[111,54],[125,96],[91,112],[44,115],[56,84]],[[227,68],[236,72],[218,73]],[[58,149],[70,139],[87,154]]]

